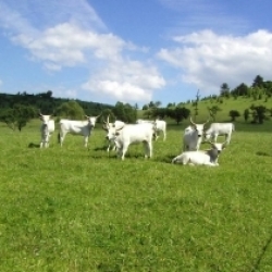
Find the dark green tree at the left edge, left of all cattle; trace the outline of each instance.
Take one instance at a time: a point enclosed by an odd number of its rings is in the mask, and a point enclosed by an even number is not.
[[[36,115],[35,109],[29,106],[14,104],[12,109],[3,111],[0,121],[4,122],[11,129],[21,132],[26,124]]]

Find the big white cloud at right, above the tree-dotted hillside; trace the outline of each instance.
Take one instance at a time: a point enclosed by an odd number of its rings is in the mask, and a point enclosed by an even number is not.
[[[174,37],[174,49],[161,49],[159,58],[180,70],[182,79],[212,94],[222,83],[231,88],[251,84],[256,75],[269,78],[272,70],[272,34],[223,36],[211,30]]]

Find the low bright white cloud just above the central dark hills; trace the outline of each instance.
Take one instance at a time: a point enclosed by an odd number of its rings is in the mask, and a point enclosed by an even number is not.
[[[147,102],[151,100],[153,90],[164,85],[164,78],[154,66],[137,61],[120,60],[91,76],[83,88],[122,102]]]

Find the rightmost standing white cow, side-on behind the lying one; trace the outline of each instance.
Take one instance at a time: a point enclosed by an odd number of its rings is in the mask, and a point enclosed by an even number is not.
[[[205,140],[213,140],[217,143],[218,136],[224,135],[226,144],[230,145],[232,132],[234,129],[233,123],[212,123],[205,132]]]

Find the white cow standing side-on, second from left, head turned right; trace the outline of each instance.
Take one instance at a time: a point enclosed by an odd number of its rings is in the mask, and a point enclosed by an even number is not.
[[[67,119],[60,120],[60,133],[59,133],[59,143],[63,145],[63,140],[67,133],[73,135],[83,135],[84,136],[84,146],[88,146],[89,136],[96,125],[97,119],[100,116],[88,116],[85,115],[87,121],[74,121]]]

